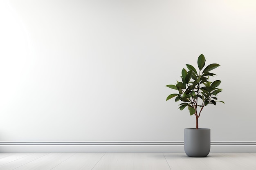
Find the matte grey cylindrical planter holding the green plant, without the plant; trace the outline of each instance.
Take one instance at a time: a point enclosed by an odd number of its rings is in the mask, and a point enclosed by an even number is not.
[[[211,129],[184,129],[184,150],[189,157],[206,157],[211,148]]]

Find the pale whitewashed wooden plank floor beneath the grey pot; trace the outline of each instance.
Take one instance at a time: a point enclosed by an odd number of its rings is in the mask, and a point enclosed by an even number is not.
[[[0,170],[256,170],[256,153],[0,153]]]

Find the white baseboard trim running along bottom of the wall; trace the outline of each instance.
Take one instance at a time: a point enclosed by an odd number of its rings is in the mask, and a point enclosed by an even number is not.
[[[0,141],[0,152],[184,152],[184,141]],[[256,152],[256,141],[211,141],[211,152]]]

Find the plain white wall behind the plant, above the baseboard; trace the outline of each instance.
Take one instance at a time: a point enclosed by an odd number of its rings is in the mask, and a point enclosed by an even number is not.
[[[225,105],[199,126],[256,140],[255,18],[253,0],[1,0],[0,140],[183,140],[195,117],[165,85],[201,53]]]

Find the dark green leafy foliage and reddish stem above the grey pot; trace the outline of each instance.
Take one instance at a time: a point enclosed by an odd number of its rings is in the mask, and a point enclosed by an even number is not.
[[[186,64],[186,67],[189,69],[188,71],[183,68],[181,75],[181,82],[177,81],[176,85],[170,84],[166,85],[169,88],[178,91],[177,93],[171,94],[167,97],[166,101],[175,97],[175,102],[182,101],[179,109],[183,110],[188,107],[190,115],[195,115],[197,119],[196,128],[198,129],[198,117],[202,112],[204,106],[208,104],[216,105],[216,102],[219,101],[216,95],[222,92],[221,88],[217,88],[221,81],[216,80],[214,82],[209,81],[209,76],[215,76],[216,74],[210,73],[209,71],[220,66],[219,64],[213,63],[205,66],[205,57],[201,54],[198,57],[198,68],[199,72],[196,71],[195,67]],[[202,71],[202,69],[204,70]],[[202,71],[202,72],[201,72]]]

